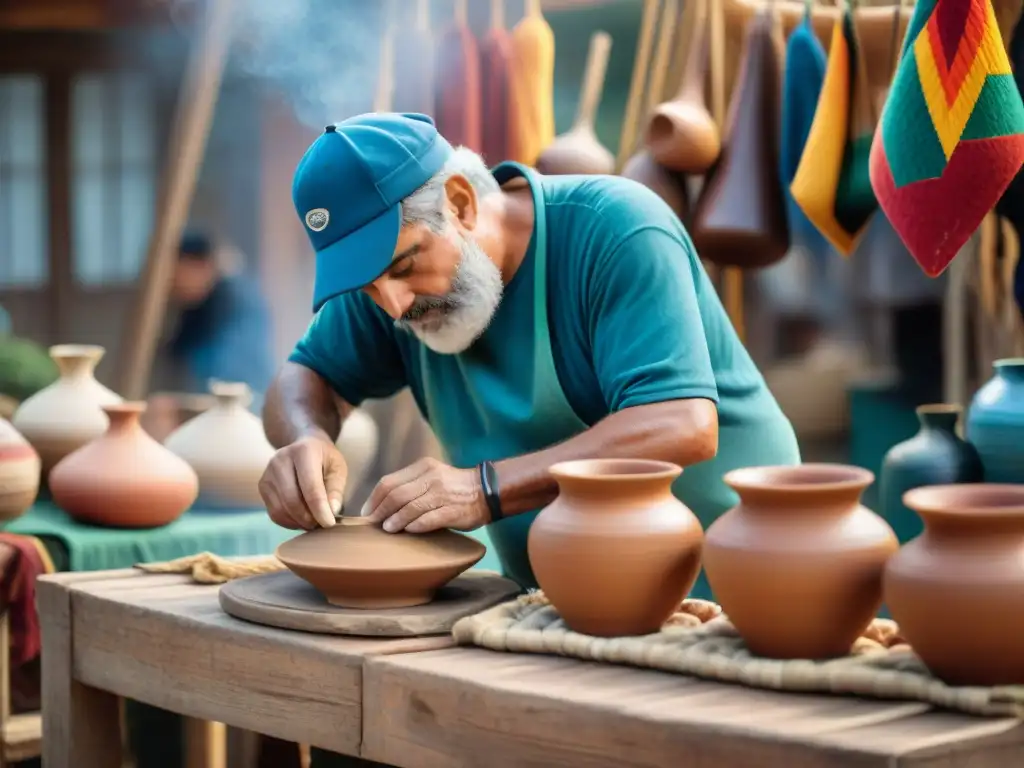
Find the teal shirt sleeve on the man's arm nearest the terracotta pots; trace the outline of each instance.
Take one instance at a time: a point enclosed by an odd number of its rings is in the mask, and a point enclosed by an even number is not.
[[[695,261],[685,234],[659,226],[637,228],[598,256],[587,313],[610,412],[692,397],[718,402]]]

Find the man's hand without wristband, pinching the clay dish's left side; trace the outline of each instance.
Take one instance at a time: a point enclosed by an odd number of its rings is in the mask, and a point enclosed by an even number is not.
[[[270,519],[286,528],[329,528],[341,511],[348,466],[330,437],[302,437],[273,455],[259,481]]]

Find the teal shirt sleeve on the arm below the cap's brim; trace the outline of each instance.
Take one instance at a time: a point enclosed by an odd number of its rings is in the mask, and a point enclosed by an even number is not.
[[[357,292],[321,307],[288,359],[319,374],[351,406],[408,383],[393,324]]]

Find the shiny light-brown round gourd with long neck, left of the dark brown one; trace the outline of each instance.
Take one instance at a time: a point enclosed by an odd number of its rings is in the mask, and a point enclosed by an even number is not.
[[[693,39],[679,93],[654,110],[645,141],[654,159],[673,171],[702,174],[722,151],[718,126],[705,101],[708,69],[707,0],[695,0]]]

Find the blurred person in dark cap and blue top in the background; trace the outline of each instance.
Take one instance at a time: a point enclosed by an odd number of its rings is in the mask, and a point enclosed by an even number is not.
[[[155,361],[158,393],[146,414],[155,436],[173,430],[182,396],[206,394],[211,380],[244,382],[251,408],[262,406],[274,374],[270,310],[260,286],[227,255],[205,232],[181,238],[168,297],[172,333]]]

